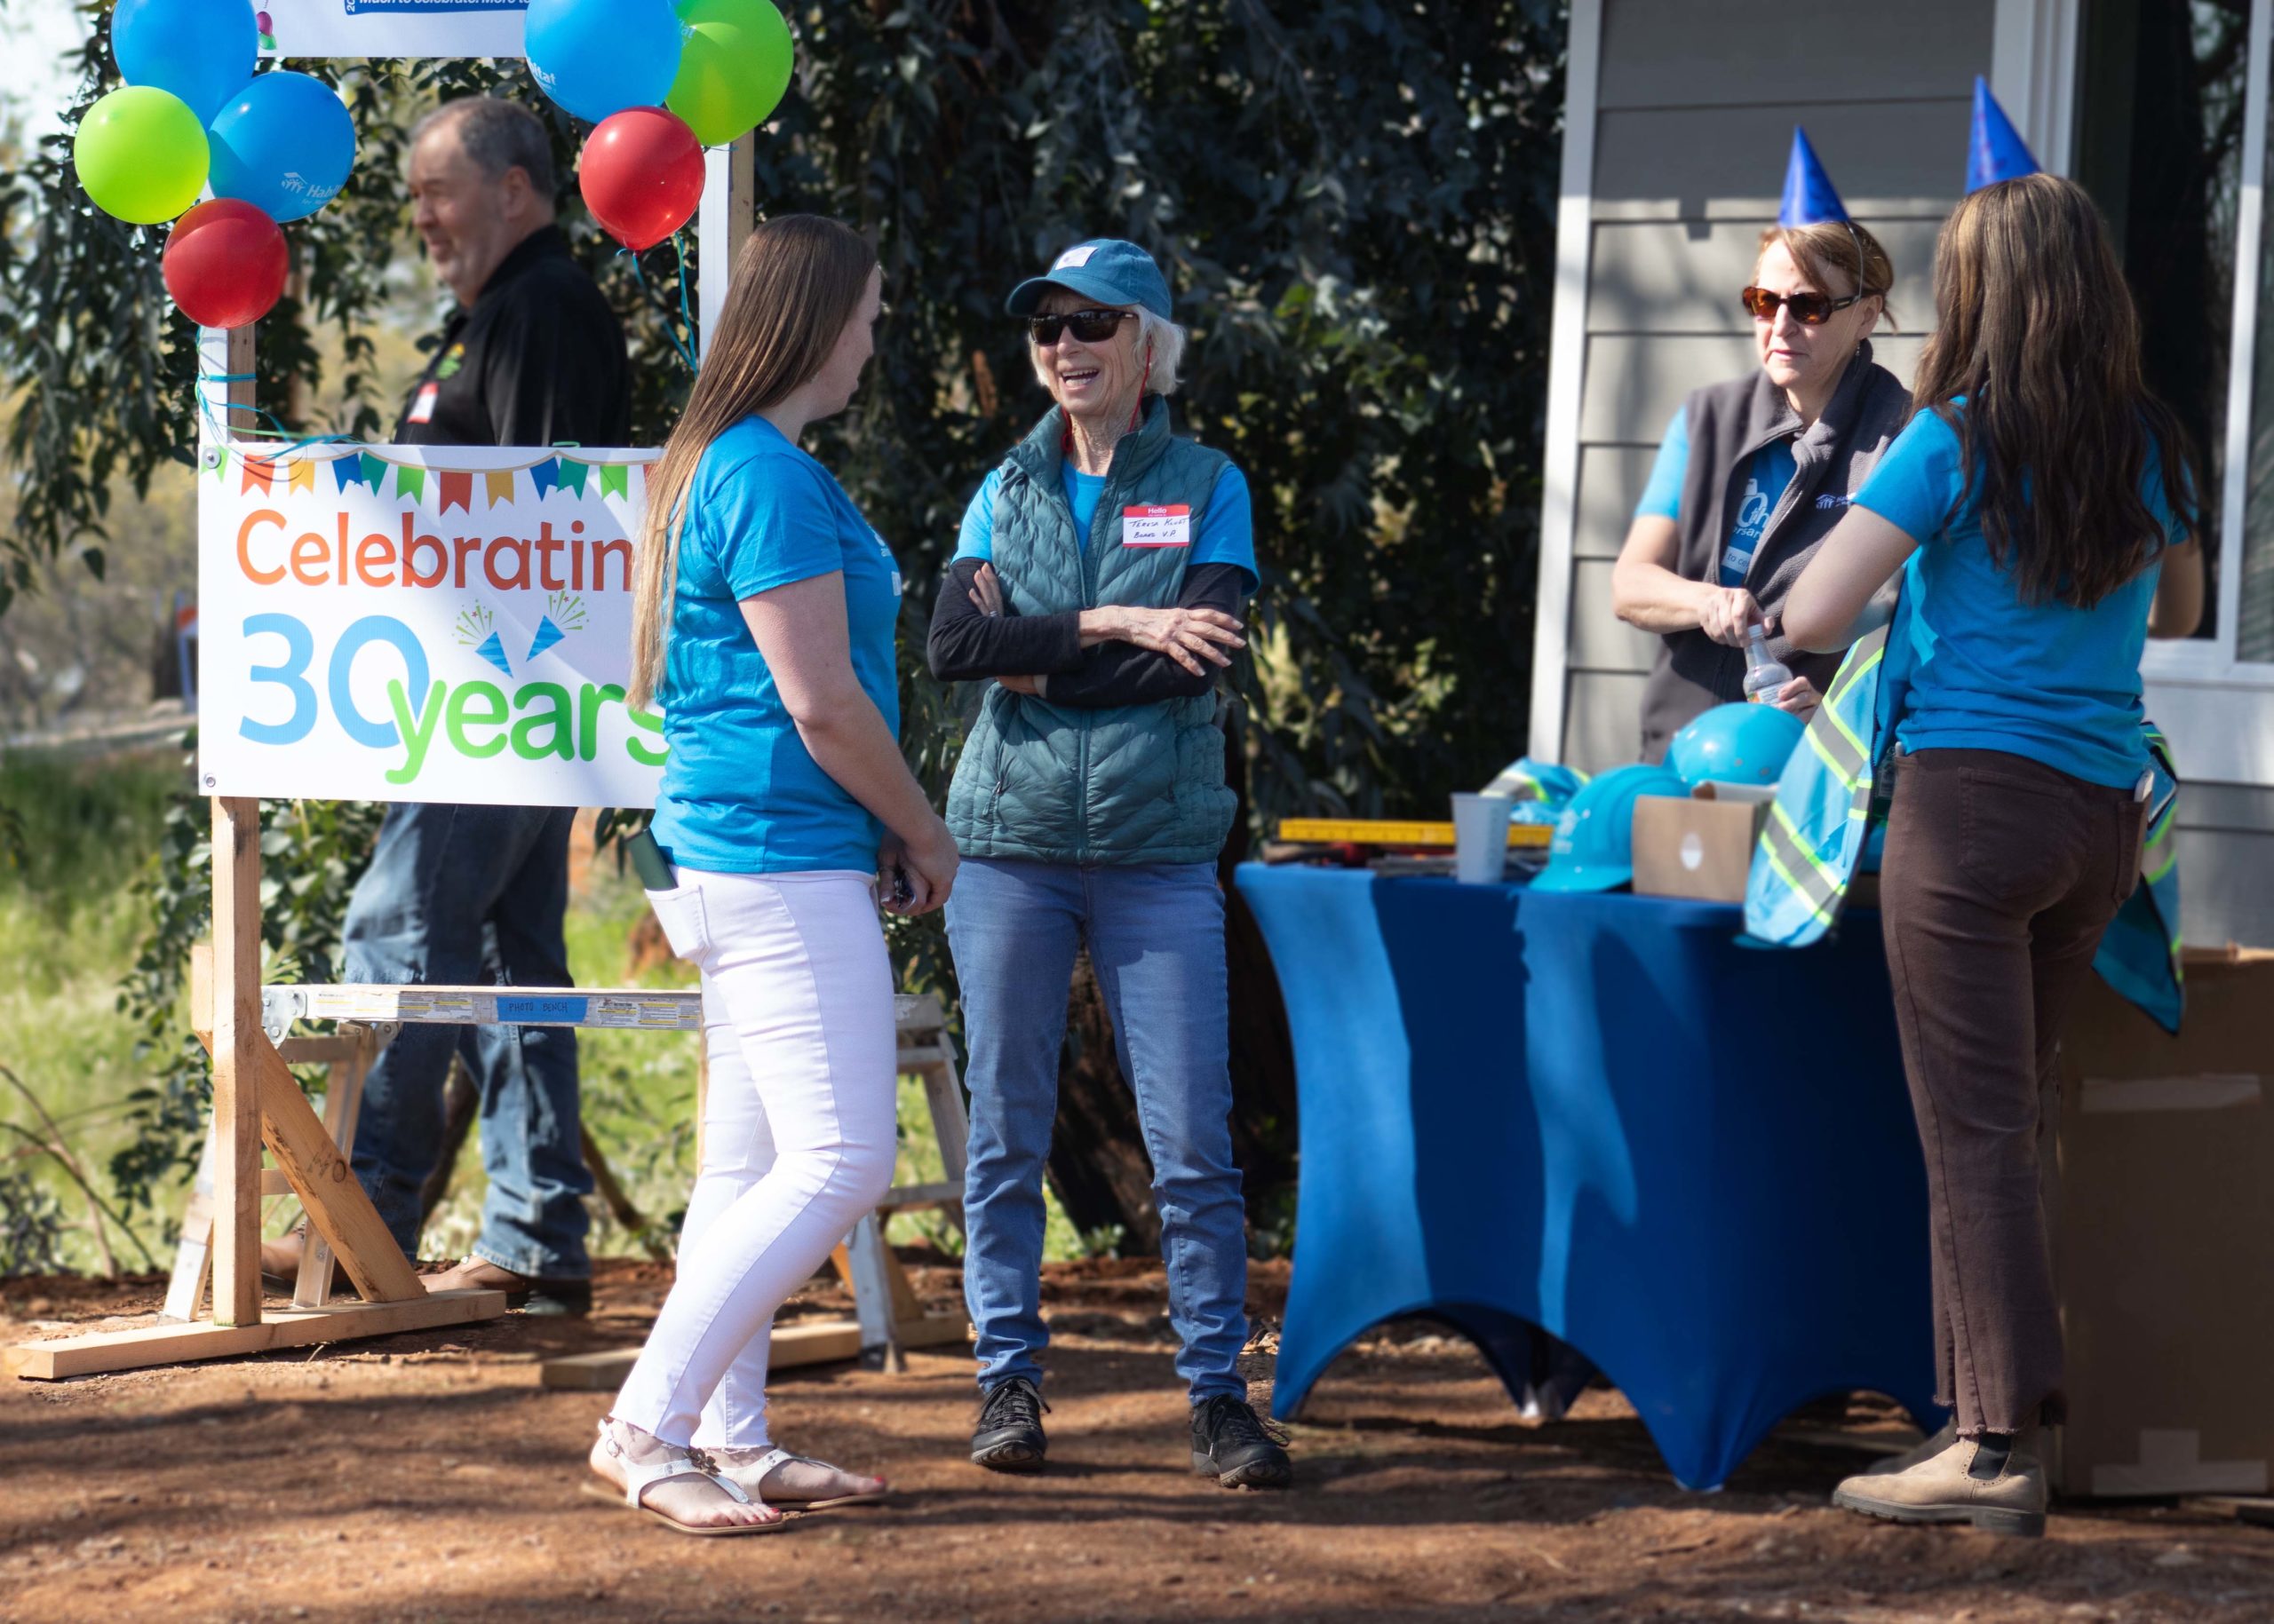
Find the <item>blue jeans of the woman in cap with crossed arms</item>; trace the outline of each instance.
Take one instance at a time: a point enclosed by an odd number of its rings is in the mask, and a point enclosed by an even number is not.
[[[971,1160],[964,1299],[980,1387],[1041,1383],[1041,1169],[1057,1117],[1057,1051],[1076,946],[1114,1024],[1137,1094],[1176,1372],[1192,1401],[1246,1397],[1246,1205],[1233,1165],[1223,892],[1212,862],[1073,867],[966,857],[948,896],[964,992]]]

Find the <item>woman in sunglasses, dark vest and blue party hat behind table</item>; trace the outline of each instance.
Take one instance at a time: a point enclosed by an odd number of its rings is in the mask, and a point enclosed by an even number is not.
[[[1840,666],[1792,648],[1778,610],[1910,416],[1867,337],[1892,284],[1887,250],[1846,218],[1794,130],[1783,209],[1740,293],[1760,371],[1696,389],[1676,409],[1610,575],[1612,612],[1662,639],[1642,696],[1642,760],[1658,762],[1694,716],[1746,696],[1753,625],[1792,671],[1771,698],[1799,716]]]

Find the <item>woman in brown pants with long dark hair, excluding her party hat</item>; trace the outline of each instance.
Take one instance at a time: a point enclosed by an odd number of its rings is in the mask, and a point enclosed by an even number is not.
[[[2140,876],[2140,651],[2201,616],[2178,421],[2092,200],[2053,175],[1967,196],[1935,250],[1917,416],[1785,600],[1840,648],[1899,569],[1906,685],[1881,908],[1933,1226],[1951,1435],[1833,1497],[1897,1522],[2044,1531],[2060,1317],[2040,1089],[2101,930]],[[2167,496],[2167,484],[2181,500]]]

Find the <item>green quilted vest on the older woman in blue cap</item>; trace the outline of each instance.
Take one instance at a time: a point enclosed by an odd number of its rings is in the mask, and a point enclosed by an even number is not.
[[[1169,403],[1146,400],[1082,546],[1060,484],[1064,416],[1051,407],[1003,462],[994,569],[1012,614],[1103,603],[1169,607],[1192,548],[1121,546],[1121,509],[1182,503],[1192,535],[1226,466],[1169,432]],[[948,787],[948,828],[966,857],[1035,862],[1214,862],[1233,828],[1217,696],[1082,710],[989,682]]]

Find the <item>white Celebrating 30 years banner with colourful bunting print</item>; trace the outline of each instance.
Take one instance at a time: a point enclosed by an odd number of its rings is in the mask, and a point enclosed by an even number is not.
[[[655,805],[662,721],[623,707],[655,455],[221,450],[198,500],[198,787]]]

